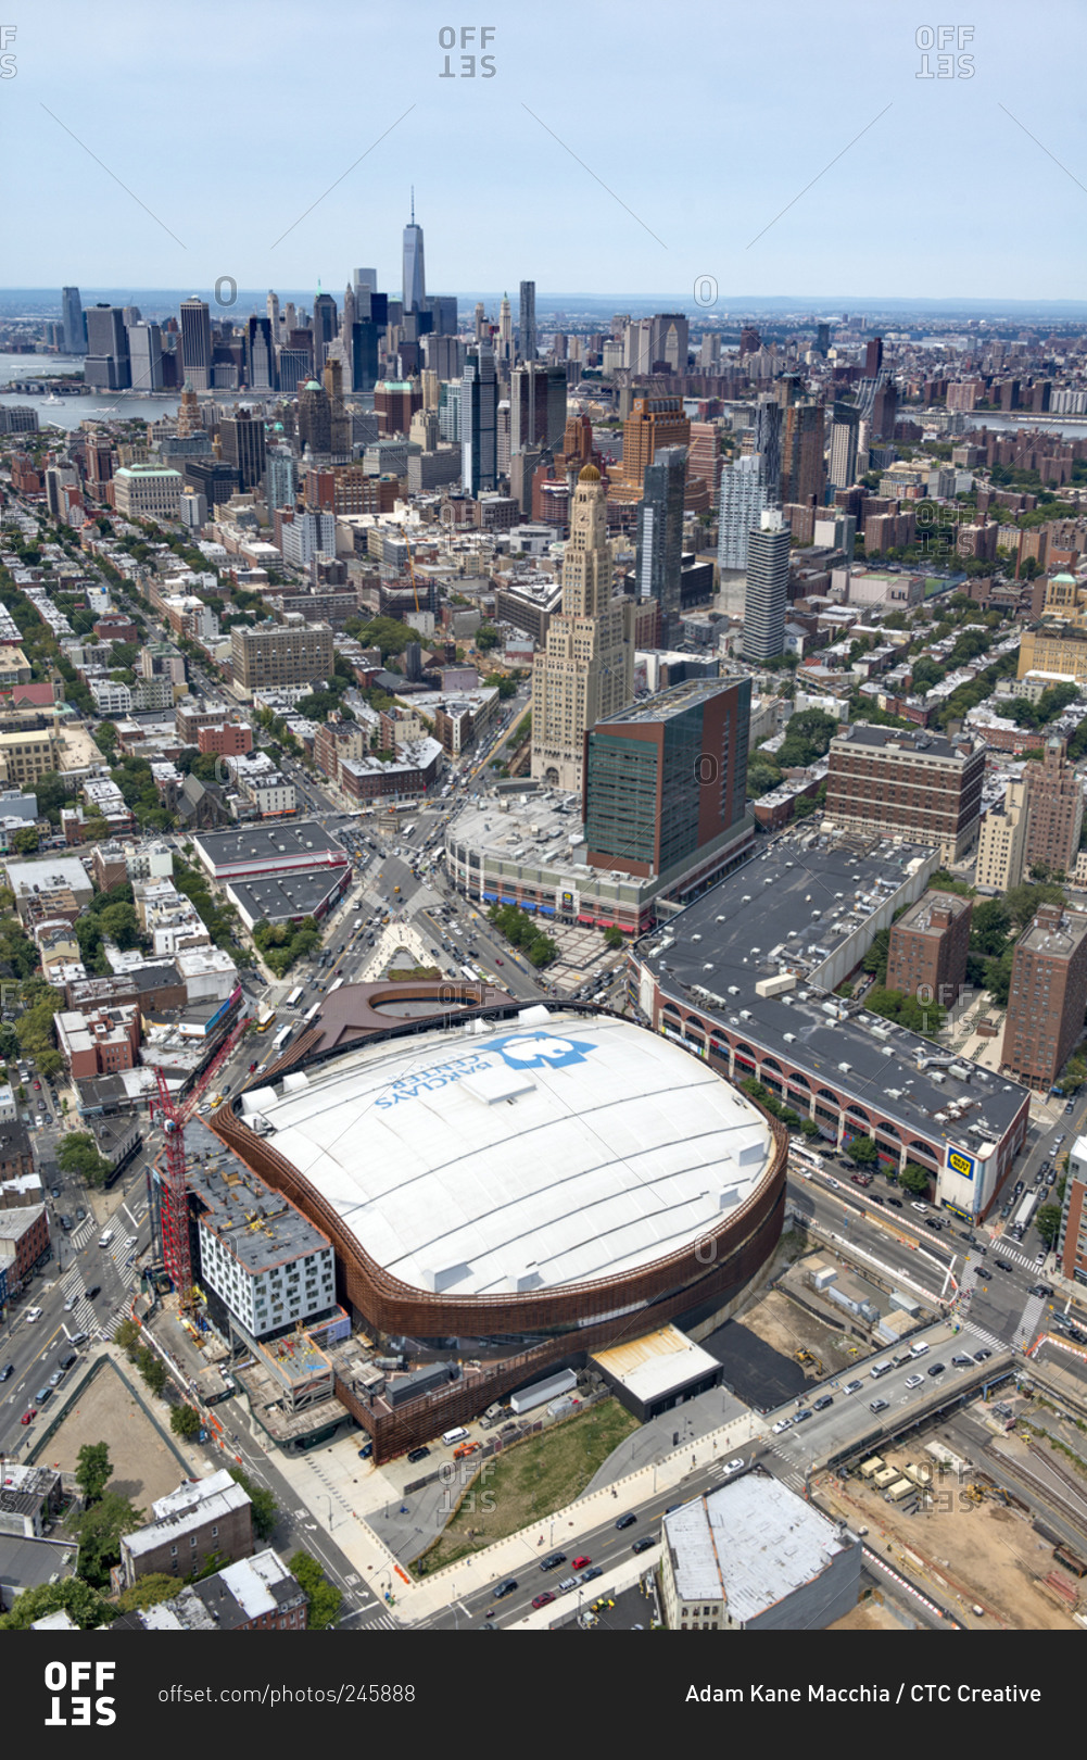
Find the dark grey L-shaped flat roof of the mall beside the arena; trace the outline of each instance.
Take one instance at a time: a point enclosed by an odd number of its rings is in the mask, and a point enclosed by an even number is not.
[[[654,929],[637,952],[665,994],[788,1060],[814,1088],[828,1077],[908,1133],[964,1140],[966,1130],[981,1148],[1003,1137],[1027,1089],[862,1003],[844,1003],[825,982],[835,950],[929,859],[925,845],[797,831]],[[871,926],[853,963],[867,945]],[[797,977],[792,991],[756,993],[786,972]]]

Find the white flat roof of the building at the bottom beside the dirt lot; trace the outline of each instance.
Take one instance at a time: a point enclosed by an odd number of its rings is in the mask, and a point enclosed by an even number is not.
[[[758,1619],[857,1542],[769,1473],[742,1473],[663,1521],[681,1602]]]

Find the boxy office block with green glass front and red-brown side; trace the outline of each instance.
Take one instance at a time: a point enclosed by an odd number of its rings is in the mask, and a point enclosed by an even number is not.
[[[586,741],[589,868],[667,875],[744,824],[749,678],[674,685],[617,715]]]

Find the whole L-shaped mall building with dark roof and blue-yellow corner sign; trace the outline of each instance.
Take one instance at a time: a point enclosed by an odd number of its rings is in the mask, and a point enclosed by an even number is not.
[[[630,996],[834,1146],[872,1137],[885,1169],[923,1167],[973,1221],[1025,1144],[1029,1091],[834,994],[936,864],[932,847],[786,834],[631,949]]]

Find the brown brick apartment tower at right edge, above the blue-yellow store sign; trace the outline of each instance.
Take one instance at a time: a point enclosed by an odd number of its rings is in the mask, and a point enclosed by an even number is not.
[[[1083,1031],[1087,912],[1041,905],[1011,956],[1001,1067],[1043,1093]]]

